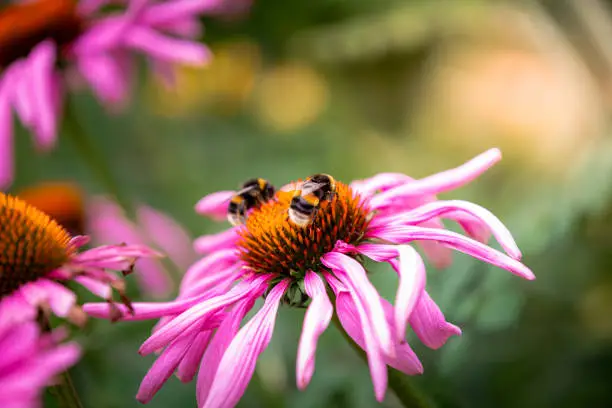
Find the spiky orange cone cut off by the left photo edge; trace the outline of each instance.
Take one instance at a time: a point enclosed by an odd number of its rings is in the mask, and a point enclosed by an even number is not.
[[[0,298],[62,266],[74,250],[47,214],[0,193]]]

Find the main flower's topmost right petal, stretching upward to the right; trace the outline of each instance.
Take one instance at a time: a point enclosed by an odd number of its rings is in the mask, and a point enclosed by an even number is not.
[[[459,167],[377,194],[372,198],[370,204],[373,208],[384,207],[398,198],[406,199],[413,196],[437,194],[459,188],[480,176],[499,160],[501,160],[499,149],[487,150]]]

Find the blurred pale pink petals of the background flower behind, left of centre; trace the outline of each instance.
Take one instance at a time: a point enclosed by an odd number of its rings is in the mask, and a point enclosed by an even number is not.
[[[146,205],[138,206],[134,223],[114,202],[94,199],[87,206],[87,231],[98,244],[129,242],[159,248],[176,270],[184,271],[196,260],[187,232],[168,215]],[[146,295],[162,298],[174,289],[169,271],[158,259],[141,260],[136,271]]]

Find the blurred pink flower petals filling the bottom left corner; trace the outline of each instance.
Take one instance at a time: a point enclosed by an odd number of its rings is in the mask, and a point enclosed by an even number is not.
[[[41,394],[80,356],[74,343],[59,344],[61,331],[41,333],[36,322],[13,319],[0,301],[0,407],[40,407]]]

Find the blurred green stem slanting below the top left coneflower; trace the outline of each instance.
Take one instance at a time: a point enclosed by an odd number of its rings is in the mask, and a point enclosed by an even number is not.
[[[79,122],[71,101],[68,101],[65,105],[64,126],[66,129],[66,136],[72,140],[72,143],[85,163],[98,178],[99,182],[104,186],[106,191],[114,197],[117,203],[123,207],[126,214],[132,217],[134,215],[134,208],[131,201],[123,194],[111,167],[108,165],[108,161],[100,153],[100,149],[97,148],[93,140],[87,136],[87,132]]]

